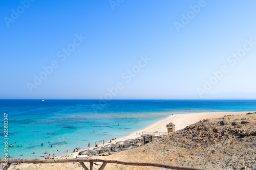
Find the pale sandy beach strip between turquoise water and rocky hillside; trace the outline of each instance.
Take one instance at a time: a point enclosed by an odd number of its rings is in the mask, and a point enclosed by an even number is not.
[[[186,126],[189,126],[191,124],[195,124],[197,122],[199,122],[200,120],[206,119],[206,118],[220,118],[223,117],[225,115],[238,115],[238,114],[246,114],[248,112],[251,111],[242,111],[242,112],[200,112],[200,113],[185,113],[185,114],[173,114],[168,116],[167,118],[160,120],[159,122],[153,123],[152,125],[138,130],[136,132],[131,132],[127,135],[125,135],[124,137],[118,138],[115,141],[111,142],[111,143],[116,143],[118,141],[124,141],[127,139],[135,139],[137,137],[140,137],[140,135],[142,134],[142,132],[167,132],[167,128],[166,125],[168,123],[170,123],[170,121],[172,120],[172,123],[175,124],[175,131],[178,131],[180,129],[185,128]],[[171,113],[170,113],[171,114]],[[105,143],[105,145],[108,145],[110,143]],[[103,147],[103,144],[98,145],[98,147]],[[90,149],[94,149],[97,147],[92,147]],[[88,150],[87,149],[82,149],[79,150],[79,152],[81,151],[85,151]],[[76,157],[78,156],[79,152],[75,152],[75,153],[69,153],[69,154],[65,154],[62,156],[72,156],[72,157]],[[62,157],[60,156],[60,157]]]

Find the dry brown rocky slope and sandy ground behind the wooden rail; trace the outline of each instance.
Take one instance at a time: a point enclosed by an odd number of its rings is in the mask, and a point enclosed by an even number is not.
[[[62,159],[67,159],[65,156]],[[202,169],[256,170],[256,112],[204,119],[133,150],[91,158],[152,162]],[[88,163],[86,163],[89,166]],[[95,165],[95,167],[99,167]],[[79,163],[35,164],[13,169],[83,169]],[[107,164],[105,169],[161,169]]]

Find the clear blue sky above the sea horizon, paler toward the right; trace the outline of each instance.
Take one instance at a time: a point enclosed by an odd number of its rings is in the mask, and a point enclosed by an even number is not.
[[[256,2],[0,1],[0,99],[256,94]]]

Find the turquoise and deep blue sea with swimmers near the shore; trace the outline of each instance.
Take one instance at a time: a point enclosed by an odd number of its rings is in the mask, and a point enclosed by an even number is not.
[[[171,114],[256,111],[256,100],[0,100],[0,111],[3,142],[8,114],[11,158],[41,158],[121,138]],[[4,156],[4,144],[0,153]]]

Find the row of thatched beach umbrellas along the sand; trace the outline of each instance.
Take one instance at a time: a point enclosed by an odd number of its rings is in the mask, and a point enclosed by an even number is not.
[[[111,143],[106,145],[105,147],[97,147],[94,149],[88,149],[86,151],[82,151],[79,152],[78,155],[96,155],[96,154],[100,154],[103,152],[110,152],[110,151],[114,151],[114,152],[119,152],[119,151],[126,151],[126,150],[131,150],[137,147],[140,147],[141,145],[143,145],[143,143],[141,141],[143,141],[143,137],[141,140],[141,137],[138,137],[139,139],[128,139],[125,141],[119,141],[116,142],[116,144]]]

